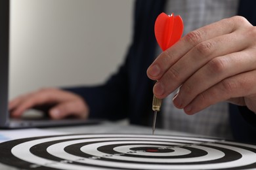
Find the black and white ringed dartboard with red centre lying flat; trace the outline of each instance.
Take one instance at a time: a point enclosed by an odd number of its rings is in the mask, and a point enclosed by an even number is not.
[[[0,144],[19,169],[256,169],[256,146],[217,139],[132,134],[33,137]]]

